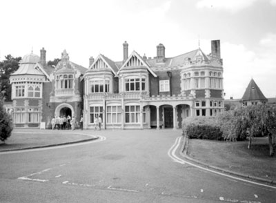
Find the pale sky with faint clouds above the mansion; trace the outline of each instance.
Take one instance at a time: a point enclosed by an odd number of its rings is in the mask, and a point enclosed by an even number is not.
[[[224,60],[225,99],[242,98],[250,79],[276,97],[276,0],[1,0],[0,60],[46,49],[88,68],[100,53],[113,61],[128,53],[166,57],[199,46],[206,55],[219,39]]]

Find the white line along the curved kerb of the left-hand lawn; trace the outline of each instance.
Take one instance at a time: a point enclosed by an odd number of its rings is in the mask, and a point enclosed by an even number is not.
[[[86,134],[81,134],[81,133],[75,133],[75,134],[79,134],[79,135],[86,135]],[[59,146],[48,146],[48,147],[43,147],[43,148],[30,148],[30,149],[21,149],[21,150],[17,150],[17,151],[3,151],[0,152],[0,155],[7,155],[7,154],[14,154],[14,153],[26,153],[26,152],[32,152],[32,151],[46,151],[46,150],[52,150],[52,149],[56,149],[56,148],[67,148],[67,147],[71,147],[71,146],[80,146],[80,145],[84,145],[84,144],[93,144],[96,142],[102,142],[106,140],[106,137],[101,136],[101,135],[88,135],[90,137],[99,137],[99,139],[95,139],[92,141],[88,141],[88,142],[79,142],[79,143],[75,143],[75,144],[65,144],[65,145],[59,145]]]

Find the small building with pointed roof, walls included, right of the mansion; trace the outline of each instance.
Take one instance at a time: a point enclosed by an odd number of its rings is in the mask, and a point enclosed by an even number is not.
[[[242,103],[242,106],[250,106],[266,104],[268,99],[266,99],[259,86],[257,86],[255,83],[254,79],[251,79],[240,102]]]

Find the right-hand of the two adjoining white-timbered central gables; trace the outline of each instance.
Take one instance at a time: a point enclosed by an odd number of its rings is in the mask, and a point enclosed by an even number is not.
[[[117,72],[117,75],[121,70],[135,66],[145,66],[154,77],[157,77],[155,72],[153,72],[153,70],[150,68],[150,64],[148,64],[147,61],[144,61],[144,59],[136,51],[133,51],[128,59],[126,59],[120,70]]]

